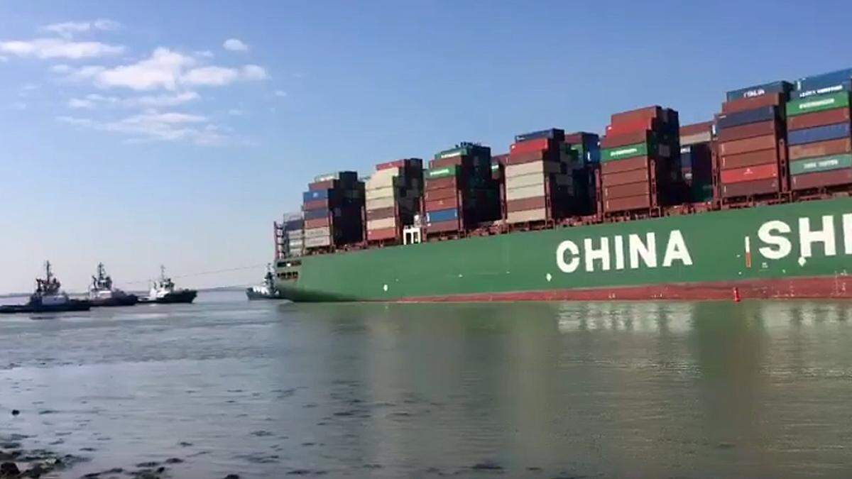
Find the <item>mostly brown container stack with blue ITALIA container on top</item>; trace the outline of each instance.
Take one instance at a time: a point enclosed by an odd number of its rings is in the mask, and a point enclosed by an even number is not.
[[[792,84],[728,91],[717,115],[717,175],[722,202],[786,191],[784,105]]]

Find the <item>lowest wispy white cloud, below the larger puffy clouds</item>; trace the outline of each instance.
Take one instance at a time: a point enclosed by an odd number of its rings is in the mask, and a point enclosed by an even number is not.
[[[196,145],[215,146],[227,136],[208,118],[188,113],[159,113],[149,110],[116,121],[98,122],[90,118],[60,116],[57,121],[93,130],[130,136],[129,141],[190,141]]]

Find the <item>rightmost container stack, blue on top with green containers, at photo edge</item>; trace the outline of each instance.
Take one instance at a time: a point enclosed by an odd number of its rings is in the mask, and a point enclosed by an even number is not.
[[[786,104],[793,191],[852,183],[850,89],[852,70],[798,80]]]

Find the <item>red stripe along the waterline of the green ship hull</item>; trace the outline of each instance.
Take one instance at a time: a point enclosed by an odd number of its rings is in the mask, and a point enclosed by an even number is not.
[[[852,298],[852,276],[838,275],[774,280],[406,297],[396,300],[396,302],[730,300],[733,297],[734,287],[739,288],[740,297],[743,299]]]

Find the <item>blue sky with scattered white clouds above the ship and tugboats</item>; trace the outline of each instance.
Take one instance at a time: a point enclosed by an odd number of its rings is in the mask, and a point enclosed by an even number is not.
[[[649,104],[710,119],[727,89],[852,66],[847,7],[0,3],[0,291],[46,258],[72,290],[98,261],[119,284],[267,263],[328,171]]]

